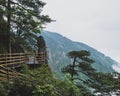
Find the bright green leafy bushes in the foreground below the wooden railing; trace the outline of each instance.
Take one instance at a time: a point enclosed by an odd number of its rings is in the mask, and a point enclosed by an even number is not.
[[[0,83],[0,96],[69,96],[71,87],[74,88],[74,96],[81,96],[75,84],[67,79],[54,78],[47,65],[36,69],[24,66],[19,71],[24,73],[23,76],[11,83]]]

